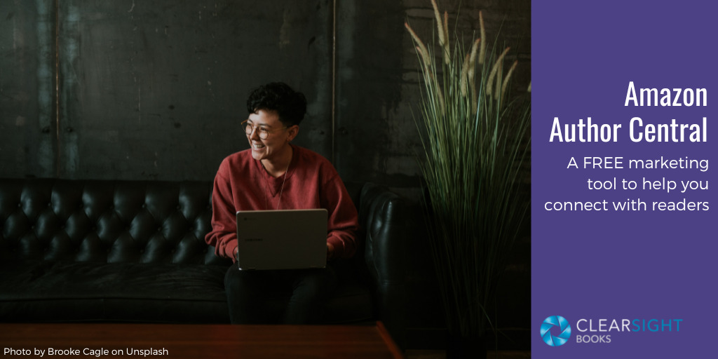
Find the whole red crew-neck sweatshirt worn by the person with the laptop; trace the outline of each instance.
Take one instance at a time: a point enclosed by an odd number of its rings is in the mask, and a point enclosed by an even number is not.
[[[212,231],[205,237],[218,256],[236,260],[238,210],[276,210],[278,202],[280,210],[325,208],[327,243],[334,246],[335,258],[354,255],[359,218],[339,174],[320,154],[294,145],[292,149],[286,182],[284,175],[267,174],[251,149],[231,154],[220,164],[212,193]]]

